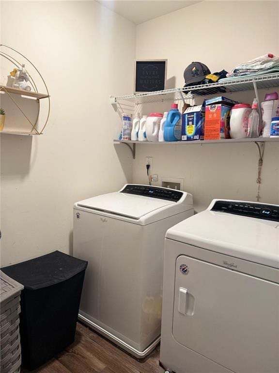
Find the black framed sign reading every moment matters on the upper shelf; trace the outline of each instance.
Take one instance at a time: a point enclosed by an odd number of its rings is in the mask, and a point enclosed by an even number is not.
[[[140,60],[135,65],[135,93],[165,89],[168,60]]]

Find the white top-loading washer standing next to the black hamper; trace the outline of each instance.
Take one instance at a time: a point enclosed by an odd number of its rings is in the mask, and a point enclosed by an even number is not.
[[[79,318],[137,357],[159,342],[167,229],[193,215],[192,195],[125,185],[75,203],[74,255],[88,260]]]

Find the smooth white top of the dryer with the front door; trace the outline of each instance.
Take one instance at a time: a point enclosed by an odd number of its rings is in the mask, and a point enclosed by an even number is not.
[[[228,213],[220,208],[214,209],[217,201],[213,202],[209,209],[171,227],[166,237],[279,268],[279,216],[275,217],[277,220],[270,220],[267,217],[261,219],[246,216],[240,212]],[[266,210],[273,208],[274,211],[274,205],[272,208],[264,206]],[[279,206],[275,207],[279,209]]]

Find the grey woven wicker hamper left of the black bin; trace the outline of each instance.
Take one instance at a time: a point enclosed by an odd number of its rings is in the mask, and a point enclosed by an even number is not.
[[[23,286],[0,271],[0,372],[20,372],[20,292]]]

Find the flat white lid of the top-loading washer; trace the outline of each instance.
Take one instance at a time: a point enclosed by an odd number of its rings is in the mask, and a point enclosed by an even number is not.
[[[139,220],[143,216],[155,213],[156,210],[171,204],[175,204],[175,202],[115,192],[80,201],[77,205]]]

